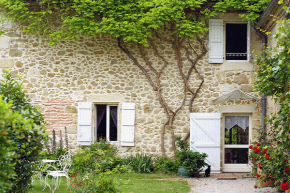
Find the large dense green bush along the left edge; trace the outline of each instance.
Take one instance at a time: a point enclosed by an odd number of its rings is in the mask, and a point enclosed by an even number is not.
[[[0,183],[3,184],[0,192],[27,192],[35,169],[34,162],[39,159],[46,136],[44,118],[29,103],[28,96],[22,91],[22,82],[14,80],[9,73],[2,76],[0,147],[3,156],[0,156],[0,162],[1,167],[6,167],[0,171]]]

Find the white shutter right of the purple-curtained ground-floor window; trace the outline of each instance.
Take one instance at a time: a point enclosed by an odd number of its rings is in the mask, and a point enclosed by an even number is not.
[[[135,103],[122,103],[121,146],[134,146]]]

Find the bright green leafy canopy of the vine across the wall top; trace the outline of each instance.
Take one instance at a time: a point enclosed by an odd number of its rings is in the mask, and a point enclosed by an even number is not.
[[[211,3],[211,4],[210,4]],[[194,37],[207,31],[206,20],[226,11],[243,11],[254,21],[269,0],[0,0],[5,19],[23,24],[50,44],[81,35],[110,34],[147,46],[153,31],[175,24],[172,34]],[[213,6],[212,6],[213,5]],[[59,26],[61,25],[61,26]]]

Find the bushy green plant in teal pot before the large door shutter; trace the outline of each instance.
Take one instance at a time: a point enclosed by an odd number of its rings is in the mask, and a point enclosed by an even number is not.
[[[179,164],[178,173],[184,177],[198,177],[202,167],[207,166],[204,159],[207,157],[206,153],[199,153],[191,151],[187,141],[181,140],[181,137],[176,137],[177,146],[179,150],[175,151],[175,158]]]

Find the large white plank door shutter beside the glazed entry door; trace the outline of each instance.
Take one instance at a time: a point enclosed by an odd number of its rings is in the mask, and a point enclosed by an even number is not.
[[[190,150],[206,153],[210,172],[220,173],[220,113],[190,113]]]

